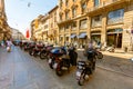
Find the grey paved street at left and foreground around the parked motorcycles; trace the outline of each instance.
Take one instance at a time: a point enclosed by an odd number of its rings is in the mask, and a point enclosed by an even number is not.
[[[105,62],[98,62],[91,79],[81,87],[76,82],[74,67],[58,77],[47,60],[31,57],[19,47],[13,47],[11,52],[0,48],[0,89],[133,89],[132,77],[104,69],[112,67]]]

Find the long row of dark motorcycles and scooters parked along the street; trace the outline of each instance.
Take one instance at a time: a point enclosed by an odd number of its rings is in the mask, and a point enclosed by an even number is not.
[[[95,70],[95,59],[103,58],[100,51],[88,50],[88,61],[78,61],[78,52],[74,47],[54,47],[53,44],[44,46],[35,42],[20,42],[20,48],[29,51],[30,56],[39,56],[40,59],[47,59],[49,67],[55,70],[57,76],[61,77],[70,67],[76,66],[76,80],[80,86],[84,85],[85,80]]]

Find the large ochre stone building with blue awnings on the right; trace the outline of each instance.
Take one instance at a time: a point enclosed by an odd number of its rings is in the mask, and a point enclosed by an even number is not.
[[[59,17],[62,43],[82,48],[91,39],[133,49],[133,0],[59,0]]]

